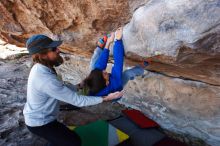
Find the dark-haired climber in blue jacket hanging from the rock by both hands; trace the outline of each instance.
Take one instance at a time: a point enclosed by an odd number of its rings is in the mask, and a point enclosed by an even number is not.
[[[135,76],[143,75],[144,69],[135,66],[123,72],[124,46],[122,42],[122,28],[107,38],[105,47],[98,47],[91,59],[89,76],[83,81],[84,87],[88,88],[88,94],[92,96],[104,96],[115,91],[121,91],[128,80]],[[105,71],[109,58],[109,46],[114,42],[113,58],[114,65],[111,73]]]

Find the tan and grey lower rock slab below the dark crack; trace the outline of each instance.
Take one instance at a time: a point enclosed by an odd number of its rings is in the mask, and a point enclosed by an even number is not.
[[[144,111],[162,127],[219,145],[220,87],[150,72],[130,82],[125,92],[121,103]]]

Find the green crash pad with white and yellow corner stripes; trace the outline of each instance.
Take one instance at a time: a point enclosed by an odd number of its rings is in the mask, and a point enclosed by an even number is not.
[[[69,128],[80,136],[82,146],[115,146],[129,138],[127,134],[102,120]]]

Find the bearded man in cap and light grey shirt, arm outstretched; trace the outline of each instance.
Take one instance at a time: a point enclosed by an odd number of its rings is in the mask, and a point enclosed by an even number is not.
[[[23,114],[27,128],[54,146],[80,146],[79,136],[57,121],[59,101],[74,106],[90,106],[122,96],[115,92],[108,96],[83,96],[58,79],[54,67],[63,63],[59,46],[45,35],[34,35],[26,42],[34,65],[27,84],[27,102]]]

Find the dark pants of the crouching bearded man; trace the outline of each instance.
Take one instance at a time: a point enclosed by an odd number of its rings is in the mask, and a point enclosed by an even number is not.
[[[80,137],[65,125],[53,121],[43,126],[27,128],[34,134],[46,139],[52,146],[80,146]]]

